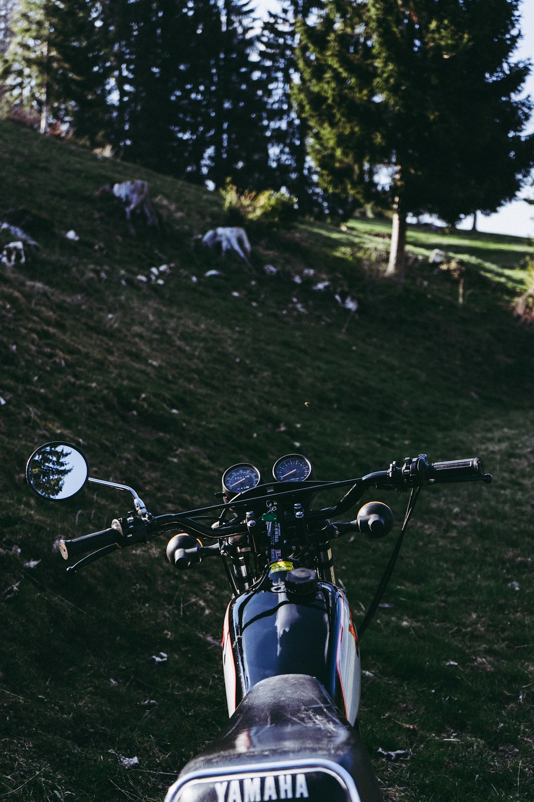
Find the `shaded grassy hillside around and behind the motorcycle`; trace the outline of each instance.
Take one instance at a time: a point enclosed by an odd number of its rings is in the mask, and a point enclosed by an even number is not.
[[[390,606],[363,640],[362,731],[388,800],[530,802],[534,337],[511,313],[528,241],[413,227],[423,258],[399,284],[382,274],[385,224],[309,223],[251,233],[252,274],[195,249],[224,222],[201,188],[6,123],[0,176],[0,220],[31,209],[41,246],[0,265],[0,794],[161,800],[226,719],[219,565],[177,576],[162,541],[64,573],[54,541],[130,503],[30,493],[30,452],[69,439],[93,476],[134,486],[155,513],[209,503],[231,464],[267,475],[295,450],[325,479],[422,451],[484,456],[492,486],[421,496]],[[130,237],[94,195],[130,178],[149,181],[159,236]],[[457,280],[428,264],[436,247],[467,265],[462,306]],[[163,264],[163,284],[139,279]],[[356,314],[313,289],[326,281]],[[399,520],[405,497],[384,500]],[[335,544],[355,614],[391,546]]]

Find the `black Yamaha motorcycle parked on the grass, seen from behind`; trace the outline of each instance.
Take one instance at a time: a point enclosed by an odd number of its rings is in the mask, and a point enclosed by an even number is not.
[[[382,800],[359,737],[359,638],[391,577],[420,488],[489,483],[492,476],[480,458],[432,464],[422,454],[385,471],[332,482],[317,480],[305,456],[288,454],[275,462],[267,482],[254,465],[233,465],[223,474],[220,503],[159,516],[148,512],[132,488],[90,478],[86,457],[72,444],[38,448],[26,476],[50,500],[73,496],[86,481],[133,496],[134,511],[113,520],[110,529],[61,541],[66,560],[92,552],[70,572],[177,529],[167,545],[176,568],[223,558],[232,591],[223,625],[230,720],[211,747],[183,768],[166,802]],[[312,508],[319,492],[335,488],[348,488],[337,504]],[[331,541],[351,532],[383,537],[393,514],[371,501],[351,522],[332,519],[353,508],[367,488],[408,490],[410,496],[390,561],[356,631],[347,596],[335,582]],[[215,542],[203,545],[206,538]]]

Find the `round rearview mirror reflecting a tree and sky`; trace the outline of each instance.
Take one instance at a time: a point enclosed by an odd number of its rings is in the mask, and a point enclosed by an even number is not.
[[[79,492],[89,476],[85,454],[61,440],[40,446],[26,464],[26,479],[38,496],[53,501]]]

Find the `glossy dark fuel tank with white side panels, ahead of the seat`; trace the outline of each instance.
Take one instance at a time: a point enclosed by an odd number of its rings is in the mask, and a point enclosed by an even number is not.
[[[327,582],[315,583],[311,593],[296,596],[287,589],[287,568],[273,571],[273,567],[258,587],[228,606],[223,666],[229,714],[263,679],[307,674],[319,679],[354,723],[359,653],[347,598]]]

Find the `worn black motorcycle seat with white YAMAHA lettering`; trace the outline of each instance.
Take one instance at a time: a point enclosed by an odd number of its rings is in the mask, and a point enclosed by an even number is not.
[[[299,798],[382,800],[358,731],[307,674],[268,677],[253,686],[167,794],[167,802]]]

